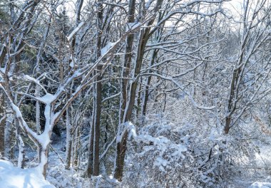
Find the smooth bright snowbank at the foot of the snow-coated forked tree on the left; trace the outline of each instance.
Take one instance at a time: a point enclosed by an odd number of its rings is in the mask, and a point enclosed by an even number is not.
[[[55,188],[37,169],[19,169],[5,160],[0,160],[0,187]]]

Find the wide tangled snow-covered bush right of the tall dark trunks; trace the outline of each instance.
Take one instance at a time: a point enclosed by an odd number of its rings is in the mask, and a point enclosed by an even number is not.
[[[128,147],[123,186],[225,187],[240,173],[240,162],[253,160],[249,141],[215,130],[207,133],[210,127],[175,125],[165,117],[146,123]]]

